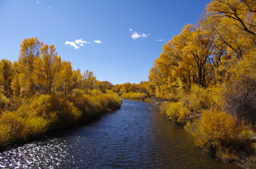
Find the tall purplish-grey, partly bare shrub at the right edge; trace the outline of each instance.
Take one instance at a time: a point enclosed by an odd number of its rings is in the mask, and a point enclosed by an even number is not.
[[[224,81],[223,99],[227,111],[256,124],[256,59],[252,56],[231,64]]]

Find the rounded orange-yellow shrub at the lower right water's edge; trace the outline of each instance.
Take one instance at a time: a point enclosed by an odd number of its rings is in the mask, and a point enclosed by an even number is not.
[[[236,123],[236,119],[218,109],[203,110],[201,119],[188,122],[185,130],[196,138],[196,144],[209,149],[222,159],[233,153],[253,136],[250,126]]]

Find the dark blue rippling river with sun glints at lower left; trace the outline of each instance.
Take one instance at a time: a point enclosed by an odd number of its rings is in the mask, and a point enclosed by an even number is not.
[[[0,153],[0,168],[238,169],[202,152],[158,107],[123,100],[83,126]]]

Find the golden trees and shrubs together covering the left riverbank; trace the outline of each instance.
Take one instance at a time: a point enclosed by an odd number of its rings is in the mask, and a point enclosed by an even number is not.
[[[53,44],[24,38],[18,61],[0,61],[0,149],[120,108],[112,86],[73,70]]]

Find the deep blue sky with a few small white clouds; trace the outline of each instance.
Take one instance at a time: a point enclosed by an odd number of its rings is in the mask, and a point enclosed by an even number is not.
[[[24,38],[54,44],[73,69],[113,84],[148,80],[162,47],[210,0],[1,0],[0,59],[18,60]]]

